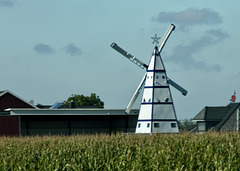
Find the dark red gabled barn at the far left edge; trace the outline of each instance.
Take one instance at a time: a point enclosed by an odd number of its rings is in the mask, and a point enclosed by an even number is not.
[[[0,136],[19,135],[19,116],[9,116],[8,108],[37,108],[11,91],[0,91]]]

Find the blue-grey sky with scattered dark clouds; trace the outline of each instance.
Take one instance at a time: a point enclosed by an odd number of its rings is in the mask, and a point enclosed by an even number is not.
[[[0,89],[35,104],[94,92],[105,108],[125,108],[145,70],[110,44],[148,63],[151,37],[173,23],[161,56],[167,75],[189,92],[171,88],[177,117],[192,118],[227,105],[234,90],[239,101],[239,3],[0,0]]]

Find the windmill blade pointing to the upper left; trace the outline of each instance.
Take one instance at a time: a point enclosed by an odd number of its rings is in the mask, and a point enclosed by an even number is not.
[[[146,65],[145,63],[143,63],[142,61],[140,61],[139,59],[137,59],[136,57],[132,56],[130,53],[126,52],[125,50],[123,50],[122,48],[120,48],[116,43],[112,43],[111,47],[113,49],[115,49],[116,51],[118,51],[119,53],[121,53],[123,56],[125,56],[126,58],[128,58],[130,61],[132,61],[133,63],[135,63],[137,66],[139,66],[140,68],[144,69],[147,68],[148,65]]]

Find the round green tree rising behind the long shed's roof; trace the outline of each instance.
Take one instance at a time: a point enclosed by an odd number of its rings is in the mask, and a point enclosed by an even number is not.
[[[99,96],[95,93],[91,93],[90,96],[84,96],[79,94],[72,94],[66,101],[63,102],[62,108],[104,108],[104,102],[102,102]]]

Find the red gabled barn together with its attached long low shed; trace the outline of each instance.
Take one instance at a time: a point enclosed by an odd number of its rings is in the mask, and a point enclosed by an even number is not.
[[[5,96],[4,96],[5,94]],[[135,132],[138,109],[40,109],[10,91],[0,94],[0,136]]]

